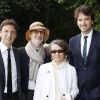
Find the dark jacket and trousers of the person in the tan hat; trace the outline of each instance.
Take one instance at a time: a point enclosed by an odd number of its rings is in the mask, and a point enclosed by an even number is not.
[[[25,47],[19,48],[21,54],[21,62],[22,62],[22,90],[25,95],[25,100],[33,100],[34,90],[28,90],[28,81],[29,81],[29,61],[30,58],[26,53]],[[45,57],[44,62],[49,62],[50,58],[48,56]]]

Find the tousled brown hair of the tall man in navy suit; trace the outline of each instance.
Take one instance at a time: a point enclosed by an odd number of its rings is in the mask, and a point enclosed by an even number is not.
[[[77,20],[78,16],[79,16],[79,13],[83,13],[85,14],[86,16],[91,16],[91,19],[94,20],[94,15],[93,15],[93,11],[92,11],[92,8],[83,4],[79,7],[77,7],[75,9],[75,12],[74,12],[74,18],[75,20]]]

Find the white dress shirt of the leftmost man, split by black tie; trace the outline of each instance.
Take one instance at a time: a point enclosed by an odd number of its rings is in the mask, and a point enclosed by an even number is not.
[[[8,48],[1,41],[0,42],[0,50],[1,50],[1,55],[2,55],[2,58],[3,58],[4,69],[5,69],[5,89],[4,89],[4,93],[7,93],[7,73],[8,73],[8,69],[7,69],[8,51],[7,51],[7,49]],[[14,52],[13,52],[12,46],[11,46],[11,50],[10,50],[10,55],[11,55],[11,72],[12,72],[12,92],[16,92],[17,91],[17,70],[16,70],[16,62],[15,62],[15,57],[14,57]]]

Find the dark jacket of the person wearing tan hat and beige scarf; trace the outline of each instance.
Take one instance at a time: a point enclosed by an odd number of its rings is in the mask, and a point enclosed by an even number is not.
[[[20,55],[21,55],[21,74],[22,74],[22,89],[24,94],[27,94],[28,91],[28,80],[29,80],[29,61],[30,58],[26,53],[26,50],[24,47],[19,48]],[[50,58],[46,55],[44,62],[47,63],[50,61]]]

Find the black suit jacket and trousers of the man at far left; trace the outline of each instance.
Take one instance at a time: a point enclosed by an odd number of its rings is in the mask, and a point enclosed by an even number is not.
[[[5,89],[5,67],[3,58],[0,51],[0,100],[22,100],[22,90],[21,90],[21,60],[20,54],[16,48],[13,48],[15,62],[16,62],[16,71],[17,71],[17,92],[12,93],[10,96],[7,93],[4,93]]]

